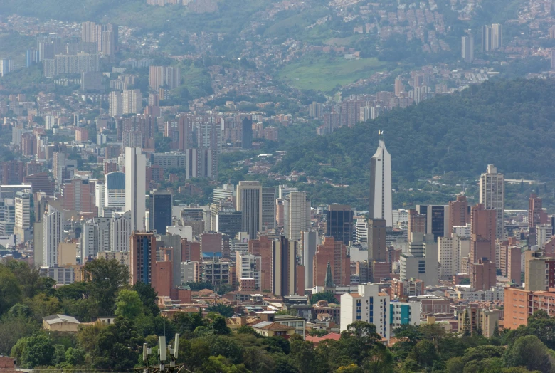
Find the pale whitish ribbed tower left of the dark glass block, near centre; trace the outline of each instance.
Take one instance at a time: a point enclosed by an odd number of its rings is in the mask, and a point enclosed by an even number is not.
[[[283,201],[285,238],[299,241],[301,231],[310,228],[310,201],[305,191],[292,191]]]

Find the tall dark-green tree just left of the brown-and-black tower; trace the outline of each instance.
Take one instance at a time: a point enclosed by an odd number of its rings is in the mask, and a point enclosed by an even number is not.
[[[85,264],[85,274],[90,281],[90,297],[98,303],[100,315],[113,315],[117,292],[129,283],[129,268],[115,259],[100,258]]]

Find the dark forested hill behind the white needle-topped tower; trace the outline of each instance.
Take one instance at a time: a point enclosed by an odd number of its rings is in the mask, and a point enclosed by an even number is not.
[[[551,177],[555,170],[555,81],[497,80],[433,98],[376,120],[287,149],[276,169],[367,184],[369,160],[384,130],[394,179],[443,172]],[[394,180],[395,182],[395,180]]]

